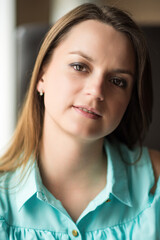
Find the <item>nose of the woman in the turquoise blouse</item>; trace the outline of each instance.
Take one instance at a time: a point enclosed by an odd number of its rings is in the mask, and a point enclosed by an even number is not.
[[[100,76],[90,77],[86,82],[85,94],[98,101],[104,100],[104,79]]]

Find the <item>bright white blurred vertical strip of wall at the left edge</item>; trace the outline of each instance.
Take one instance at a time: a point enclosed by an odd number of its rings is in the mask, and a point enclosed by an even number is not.
[[[0,0],[0,154],[15,127],[15,52],[15,0]]]

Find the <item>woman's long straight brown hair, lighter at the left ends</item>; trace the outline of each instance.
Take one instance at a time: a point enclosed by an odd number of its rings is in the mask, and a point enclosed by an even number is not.
[[[132,42],[136,56],[136,79],[126,113],[118,128],[107,138],[117,139],[132,148],[141,143],[151,122],[152,84],[150,59],[146,43],[139,27],[123,11],[109,6],[98,7],[83,4],[59,19],[50,29],[39,51],[22,113],[12,139],[12,143],[0,159],[0,171],[13,171],[18,166],[26,165],[31,155],[34,159],[39,153],[41,141],[44,101],[37,93],[36,86],[42,67],[50,61],[54,49],[76,24],[88,20],[111,25],[123,32]]]

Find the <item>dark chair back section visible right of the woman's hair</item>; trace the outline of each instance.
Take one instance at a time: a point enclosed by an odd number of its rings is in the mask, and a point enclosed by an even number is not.
[[[152,65],[153,77],[153,120],[145,139],[145,144],[160,150],[160,26],[144,26]]]

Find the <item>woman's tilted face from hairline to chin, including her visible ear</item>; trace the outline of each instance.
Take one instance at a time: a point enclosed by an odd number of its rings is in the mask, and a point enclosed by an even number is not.
[[[74,26],[43,69],[44,127],[96,140],[119,125],[131,98],[135,56],[127,36],[87,20]]]

